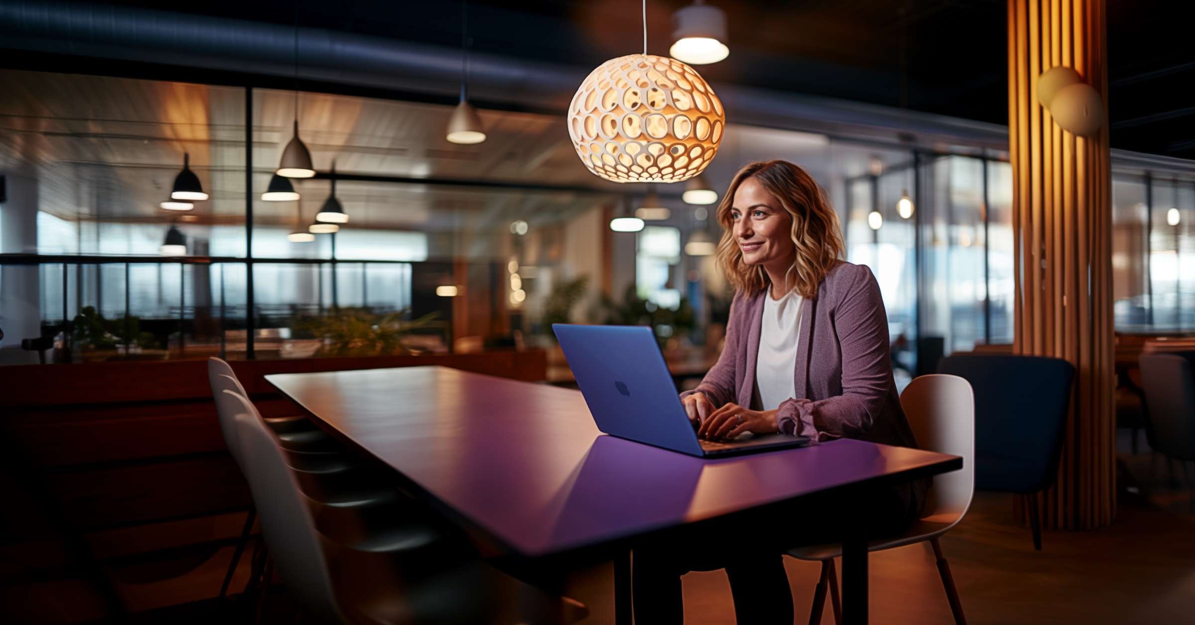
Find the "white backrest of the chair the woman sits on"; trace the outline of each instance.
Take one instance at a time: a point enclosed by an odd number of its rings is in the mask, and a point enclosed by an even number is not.
[[[900,404],[923,449],[963,459],[961,470],[933,477],[921,515],[956,514],[962,519],[975,494],[975,396],[970,384],[957,375],[921,375],[905,387]]]

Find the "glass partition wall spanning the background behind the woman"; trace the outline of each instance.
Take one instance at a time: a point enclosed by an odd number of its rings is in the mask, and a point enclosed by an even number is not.
[[[486,142],[454,146],[447,105],[20,71],[0,88],[0,362],[37,362],[38,337],[79,362],[550,347],[559,320],[650,323],[666,349],[721,336],[717,207],[661,186],[670,216],[608,232],[648,185],[606,191],[556,117],[483,111]],[[319,173],[264,197],[295,121]],[[897,375],[1011,343],[1004,154],[734,124],[722,152],[716,189],[767,158],[827,189]],[[208,197],[164,208],[184,167]],[[1195,329],[1195,180],[1119,168],[1113,191],[1117,331]],[[333,197],[338,232],[289,237]]]

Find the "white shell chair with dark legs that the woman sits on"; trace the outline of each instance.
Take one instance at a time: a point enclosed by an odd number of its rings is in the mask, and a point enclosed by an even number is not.
[[[900,397],[901,406],[908,417],[913,434],[924,449],[960,455],[963,467],[960,471],[944,473],[933,478],[921,513],[921,519],[900,537],[874,540],[868,551],[882,551],[902,547],[915,543],[930,543],[938,560],[938,575],[950,601],[950,612],[955,623],[966,624],[958,592],[955,589],[950,565],[942,553],[938,537],[962,521],[970,508],[975,491],[975,396],[970,384],[956,375],[930,374],[915,378]],[[803,560],[822,563],[821,578],[814,592],[810,624],[821,623],[822,607],[826,605],[827,586],[834,605],[834,620],[841,621],[838,606],[838,577],[834,572],[834,558],[842,554],[841,545],[815,545],[795,549],[790,556]]]

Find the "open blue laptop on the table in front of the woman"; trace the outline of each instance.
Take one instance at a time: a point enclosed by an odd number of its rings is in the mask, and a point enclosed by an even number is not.
[[[598,429],[636,442],[704,458],[807,445],[804,436],[743,434],[704,441],[680,403],[651,329],[552,324]]]

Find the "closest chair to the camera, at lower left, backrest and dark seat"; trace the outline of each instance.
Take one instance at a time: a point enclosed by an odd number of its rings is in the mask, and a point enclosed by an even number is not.
[[[306,614],[331,623],[575,623],[583,605],[551,596],[434,544],[362,552],[317,531],[277,439],[249,412],[235,417],[262,535]]]

